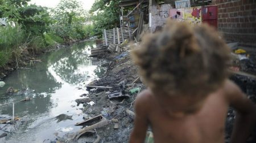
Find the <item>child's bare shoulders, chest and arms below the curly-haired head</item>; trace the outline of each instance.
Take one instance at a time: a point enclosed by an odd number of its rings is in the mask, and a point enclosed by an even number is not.
[[[236,109],[231,142],[245,142],[254,127],[256,107],[232,81],[207,97],[154,95],[144,90],[135,102],[135,126],[130,143],[144,142],[151,125],[155,143],[224,143],[228,107]]]

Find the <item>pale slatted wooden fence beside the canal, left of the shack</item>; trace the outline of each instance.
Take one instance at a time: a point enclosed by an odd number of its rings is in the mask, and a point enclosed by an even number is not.
[[[104,29],[102,32],[102,37],[104,38],[102,43],[104,46],[108,46],[110,44],[121,44],[126,39],[131,40],[133,38],[131,35],[132,32],[133,29],[130,28]]]

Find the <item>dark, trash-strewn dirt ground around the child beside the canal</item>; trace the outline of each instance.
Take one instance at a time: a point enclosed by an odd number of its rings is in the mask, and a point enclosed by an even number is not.
[[[134,99],[137,93],[131,94],[130,89],[140,88],[145,89],[146,86],[138,79],[138,68],[134,66],[129,54],[106,54],[105,59],[108,59],[108,70],[98,81],[93,81],[92,85],[97,86],[109,86],[113,89],[88,89],[88,97],[94,101],[94,105],[90,106],[87,103],[84,104],[84,119],[102,114],[106,119],[111,122],[104,127],[97,128],[97,135],[100,136],[100,142],[127,142],[131,130],[133,129],[132,116],[128,115],[126,110],[134,111]],[[251,55],[248,60],[238,61],[237,66],[241,71],[256,73],[255,68],[255,55]],[[138,79],[138,80],[136,80]],[[237,83],[243,92],[245,92],[253,102],[256,103],[256,81],[246,76],[232,75],[230,77],[235,83]],[[129,94],[129,98],[117,98],[110,100],[108,98],[109,92],[122,91],[123,94]],[[119,100],[119,101],[118,101]],[[229,142],[232,132],[233,122],[235,114],[234,110],[230,107],[226,118],[226,142]],[[114,123],[118,124],[118,129],[114,129]],[[256,142],[255,139],[256,130],[249,137],[247,142]],[[91,142],[93,140],[90,140]],[[88,138],[81,137],[78,142],[90,142]]]

